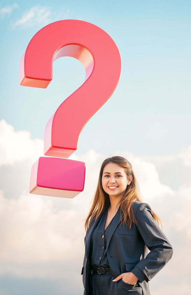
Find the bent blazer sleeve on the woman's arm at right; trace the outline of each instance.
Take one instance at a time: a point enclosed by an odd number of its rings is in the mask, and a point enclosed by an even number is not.
[[[150,281],[172,258],[173,248],[154,219],[151,207],[140,203],[136,211],[137,228],[145,245],[150,250],[131,272],[142,283]]]

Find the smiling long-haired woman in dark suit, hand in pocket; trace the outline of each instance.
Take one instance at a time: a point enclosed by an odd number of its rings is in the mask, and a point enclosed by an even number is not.
[[[84,295],[150,295],[149,281],[171,259],[161,220],[138,191],[129,161],[104,160],[85,220]]]

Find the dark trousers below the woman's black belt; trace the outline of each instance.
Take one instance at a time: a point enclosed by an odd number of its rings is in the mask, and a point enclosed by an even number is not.
[[[122,279],[113,282],[115,277],[112,273],[93,273],[90,276],[91,292],[90,295],[143,295],[141,286],[137,283],[131,285]]]

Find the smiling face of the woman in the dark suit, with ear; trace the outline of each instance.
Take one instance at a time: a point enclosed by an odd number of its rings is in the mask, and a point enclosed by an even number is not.
[[[131,179],[133,179],[132,175]],[[105,165],[102,175],[102,187],[108,195],[122,198],[127,185],[130,183],[131,180],[128,180],[124,168],[115,163]],[[111,186],[117,186],[117,188],[112,189]]]

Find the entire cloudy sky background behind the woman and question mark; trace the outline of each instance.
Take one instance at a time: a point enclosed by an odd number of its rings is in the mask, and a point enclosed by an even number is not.
[[[190,257],[181,259],[191,243],[190,16],[191,2],[184,0],[0,2],[0,295],[83,294],[82,220],[101,163],[111,155],[132,163],[143,200],[174,246],[174,259],[150,282],[151,294],[190,292]],[[47,121],[84,83],[85,69],[62,57],[46,89],[19,85],[19,61],[31,38],[61,19],[103,28],[122,58],[118,87],[70,157],[87,169],[84,191],[73,199],[31,195],[28,188]]]

